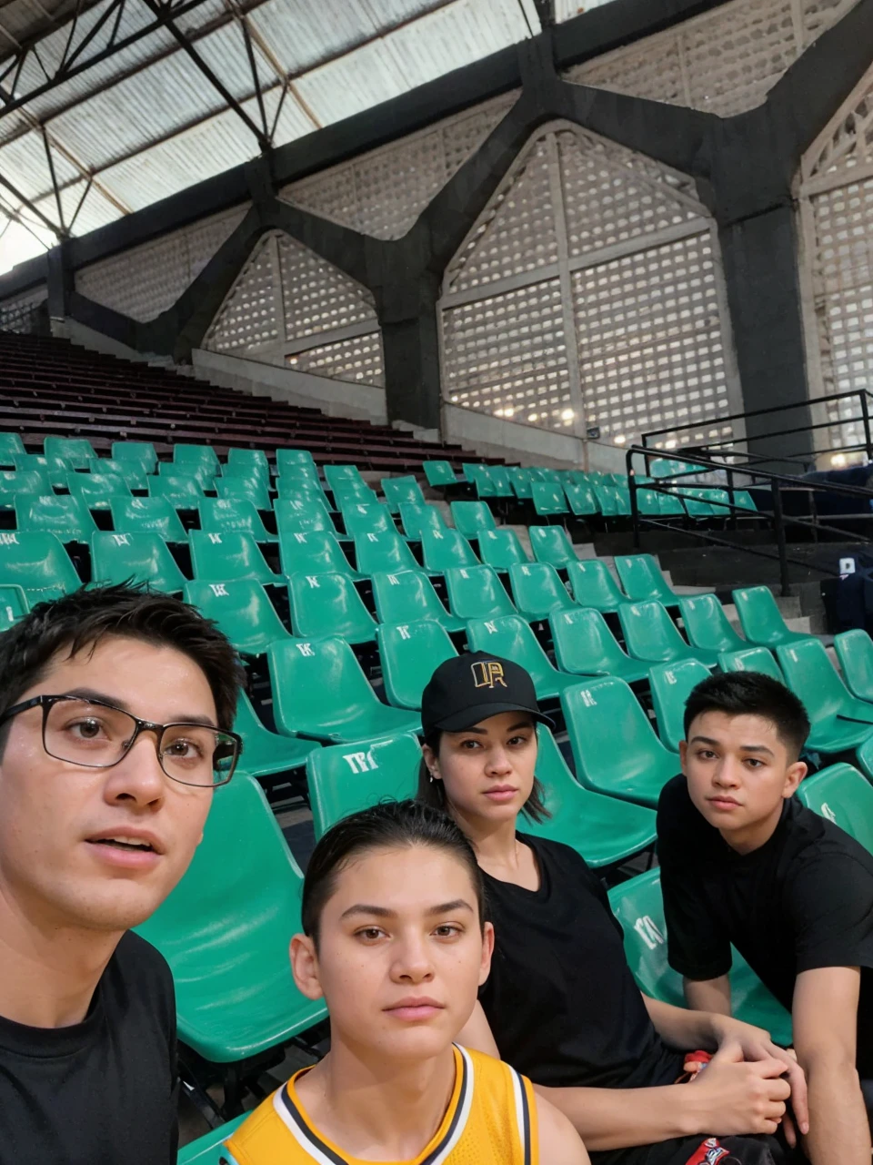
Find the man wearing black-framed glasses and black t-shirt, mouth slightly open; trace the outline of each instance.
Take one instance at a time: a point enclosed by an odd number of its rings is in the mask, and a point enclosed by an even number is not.
[[[0,1165],[176,1162],[172,979],[130,927],[233,776],[241,678],[193,608],[126,586],[0,636]]]

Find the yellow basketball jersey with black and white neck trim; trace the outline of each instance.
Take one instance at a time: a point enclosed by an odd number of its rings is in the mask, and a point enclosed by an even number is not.
[[[222,1165],[368,1165],[327,1141],[306,1116],[294,1085],[307,1071],[240,1125]],[[435,1136],[414,1160],[386,1165],[539,1165],[530,1080],[490,1055],[455,1047],[455,1087]]]

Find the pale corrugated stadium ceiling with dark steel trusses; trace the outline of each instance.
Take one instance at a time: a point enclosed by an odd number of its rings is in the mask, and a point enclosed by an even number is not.
[[[0,273],[608,0],[0,0]]]

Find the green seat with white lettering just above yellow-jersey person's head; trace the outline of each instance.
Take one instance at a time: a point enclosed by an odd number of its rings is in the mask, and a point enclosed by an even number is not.
[[[413,798],[420,763],[421,749],[412,733],[313,753],[306,762],[306,783],[315,836],[381,800]]]

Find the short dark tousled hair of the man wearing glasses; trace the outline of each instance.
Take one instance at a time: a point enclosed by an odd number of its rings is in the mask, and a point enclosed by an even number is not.
[[[127,584],[80,587],[37,603],[0,636],[0,714],[40,682],[59,651],[69,649],[68,656],[93,651],[112,635],[175,648],[193,659],[212,689],[218,727],[233,728],[244,672],[227,638],[180,599]]]

